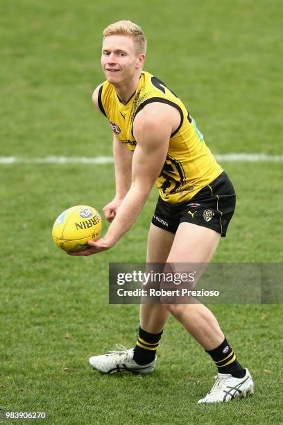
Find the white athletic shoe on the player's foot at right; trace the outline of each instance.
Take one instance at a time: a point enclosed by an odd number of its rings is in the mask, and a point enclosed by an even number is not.
[[[212,389],[203,399],[198,400],[198,403],[231,401],[237,397],[241,399],[254,392],[254,383],[248,369],[246,369],[246,375],[243,378],[234,378],[230,374],[217,374],[214,378],[216,378],[216,382]]]

